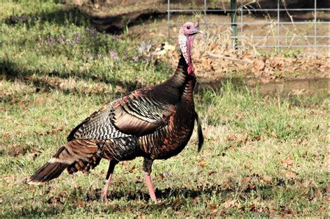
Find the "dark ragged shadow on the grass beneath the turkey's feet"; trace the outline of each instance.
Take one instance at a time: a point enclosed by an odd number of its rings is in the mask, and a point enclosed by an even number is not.
[[[269,186],[259,186],[258,188],[254,189],[246,189],[243,190],[239,198],[244,200],[244,197],[249,193],[255,193],[258,189],[264,194],[264,197],[272,197],[270,193],[272,193],[272,189],[278,185],[269,185]],[[168,208],[172,208],[180,210],[182,207],[187,206],[191,200],[195,197],[211,197],[212,195],[217,195],[219,200],[226,200],[231,194],[235,194],[235,190],[231,189],[223,189],[221,185],[213,185],[208,188],[197,188],[197,189],[190,189],[190,188],[164,188],[162,190],[156,189],[156,195],[160,201],[157,204],[148,204],[150,201],[150,197],[148,193],[138,192],[136,191],[129,191],[129,190],[120,190],[116,193],[112,192],[111,195],[108,196],[108,203],[106,205],[102,205],[100,203],[100,189],[96,190],[83,190],[81,187],[77,187],[74,189],[74,192],[71,193],[68,200],[64,202],[54,202],[52,201],[47,203],[49,204],[49,208],[42,209],[41,207],[36,208],[29,208],[29,209],[22,209],[21,211],[17,211],[16,213],[10,213],[10,217],[13,218],[21,218],[21,217],[40,217],[40,216],[56,216],[63,211],[74,211],[77,207],[77,202],[81,202],[81,196],[84,196],[84,203],[94,203],[95,205],[100,205],[100,209],[97,211],[109,213],[109,212],[120,212],[120,211],[127,211],[127,209],[136,209],[136,206],[139,206],[141,211],[150,212],[152,210],[162,211]],[[58,195],[61,197],[61,195]],[[59,197],[51,197],[50,200],[59,200]],[[171,198],[173,197],[173,198]],[[182,197],[184,197],[182,199]],[[127,200],[133,202],[127,202],[123,206],[120,204],[113,204],[111,200]],[[80,200],[80,201],[79,201]],[[142,200],[143,202],[136,202],[136,200]],[[93,204],[93,205],[94,205]],[[79,205],[79,204],[78,204]],[[84,204],[86,205],[86,204]],[[88,211],[91,206],[88,204],[84,206],[85,211]],[[93,207],[92,207],[93,208]],[[66,209],[66,210],[65,210]],[[95,208],[93,208],[95,211]],[[6,218],[6,215],[3,215]],[[8,215],[7,215],[8,216]]]

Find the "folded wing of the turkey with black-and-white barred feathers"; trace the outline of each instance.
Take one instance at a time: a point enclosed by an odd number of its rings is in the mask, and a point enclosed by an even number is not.
[[[143,136],[164,127],[174,106],[139,92],[100,108],[71,131],[68,141]]]

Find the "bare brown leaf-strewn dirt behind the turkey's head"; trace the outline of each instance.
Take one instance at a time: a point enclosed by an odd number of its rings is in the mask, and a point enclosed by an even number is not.
[[[127,25],[126,34],[141,42],[142,55],[154,56],[170,65],[177,65],[179,56],[176,46],[176,35],[180,24],[187,20],[199,20],[201,29],[206,32],[196,38],[194,48],[194,65],[196,74],[201,83],[215,86],[223,79],[244,79],[249,86],[260,83],[264,93],[278,92],[281,86],[283,92],[296,94],[313,94],[329,90],[330,58],[329,47],[314,48],[289,47],[281,50],[277,56],[276,49],[260,49],[258,46],[276,45],[277,26],[275,24],[258,24],[260,22],[274,22],[275,15],[259,14],[244,15],[243,21],[257,24],[238,25],[239,47],[233,49],[230,25],[217,23],[230,22],[229,15],[186,13],[171,15],[171,27],[167,27],[167,5],[159,1],[146,1],[136,6],[127,0],[121,4],[97,1],[84,3],[79,6],[92,19],[92,24],[100,31],[115,31],[119,38],[123,38],[120,29]],[[173,8],[182,8],[178,4]],[[191,6],[194,8],[194,6]],[[313,20],[313,13],[291,13],[294,21]],[[274,17],[275,16],[275,17]],[[281,22],[290,22],[288,14],[281,15]],[[329,13],[318,13],[317,18],[329,21]],[[241,17],[238,17],[241,22]],[[207,23],[204,24],[204,23]],[[117,32],[116,32],[117,31]],[[281,44],[297,46],[299,44],[312,45],[314,38],[305,38],[313,35],[313,24],[283,24],[280,26]],[[317,24],[317,35],[329,36],[327,24]],[[168,40],[168,35],[170,39]],[[317,38],[317,44],[330,44],[330,38]],[[148,51],[146,50],[148,47]],[[267,85],[267,86],[265,86]]]

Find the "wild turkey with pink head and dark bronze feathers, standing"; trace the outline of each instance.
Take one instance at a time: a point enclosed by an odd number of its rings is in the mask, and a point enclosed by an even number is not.
[[[182,25],[178,42],[182,54],[178,68],[170,79],[157,86],[134,90],[100,108],[75,127],[68,143],[29,179],[29,184],[42,184],[68,170],[86,172],[102,158],[109,159],[109,170],[101,201],[107,200],[111,175],[119,161],[143,156],[146,184],[157,202],[150,177],[155,159],[168,159],[187,145],[198,124],[198,151],[203,145],[201,122],[194,107],[196,83],[190,51],[198,30],[198,22]]]

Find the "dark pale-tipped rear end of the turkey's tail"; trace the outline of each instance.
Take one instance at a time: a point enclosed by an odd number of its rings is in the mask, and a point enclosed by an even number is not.
[[[61,175],[63,170],[73,163],[72,161],[58,158],[63,151],[65,151],[65,147],[58,149],[52,159],[45,163],[45,165],[42,165],[42,167],[30,177],[28,184],[43,184]]]

